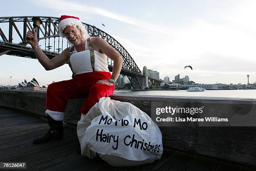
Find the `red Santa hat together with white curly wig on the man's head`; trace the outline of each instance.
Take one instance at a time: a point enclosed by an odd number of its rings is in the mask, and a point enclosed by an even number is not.
[[[78,29],[81,29],[83,40],[90,38],[90,35],[88,34],[85,26],[82,24],[79,18],[69,16],[69,15],[61,15],[61,18],[59,19],[59,36],[66,38],[66,36],[64,35],[64,29],[67,26],[74,26],[74,27],[77,27]],[[68,43],[70,43],[69,40],[67,41]]]

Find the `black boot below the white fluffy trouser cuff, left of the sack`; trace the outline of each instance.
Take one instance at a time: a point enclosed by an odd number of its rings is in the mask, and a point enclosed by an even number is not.
[[[55,121],[51,116],[47,115],[48,124],[50,126],[49,131],[45,136],[34,139],[34,144],[47,143],[52,139],[61,140],[63,138],[63,122]]]

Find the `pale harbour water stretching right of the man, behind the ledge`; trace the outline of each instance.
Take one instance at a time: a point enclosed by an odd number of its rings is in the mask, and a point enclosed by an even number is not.
[[[180,91],[115,91],[115,94],[157,95],[157,96],[197,96],[197,97],[225,97],[251,98],[256,100],[256,90],[206,90],[204,92]]]

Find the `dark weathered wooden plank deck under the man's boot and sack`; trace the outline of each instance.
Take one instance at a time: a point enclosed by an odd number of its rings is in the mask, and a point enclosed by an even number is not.
[[[12,117],[13,114],[13,117]],[[100,158],[90,159],[76,152],[76,131],[64,126],[64,138],[33,144],[49,129],[38,117],[0,107],[0,162],[27,162],[28,170],[168,170],[168,171],[253,171],[237,163],[164,148],[161,160],[133,167],[114,167]],[[15,169],[16,170],[16,169]]]

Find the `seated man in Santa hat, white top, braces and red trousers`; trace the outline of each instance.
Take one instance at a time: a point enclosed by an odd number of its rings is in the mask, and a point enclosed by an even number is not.
[[[38,45],[35,28],[28,31],[26,39],[32,46],[37,59],[46,70],[53,70],[69,63],[72,79],[52,83],[46,93],[46,115],[50,126],[45,136],[35,139],[34,144],[59,140],[63,137],[67,101],[85,98],[82,115],[90,110],[101,97],[110,96],[120,74],[123,59],[120,54],[102,38],[90,38],[79,18],[62,15],[59,19],[59,34],[71,43],[61,54],[49,59]],[[107,56],[114,61],[113,73],[108,70]]]

